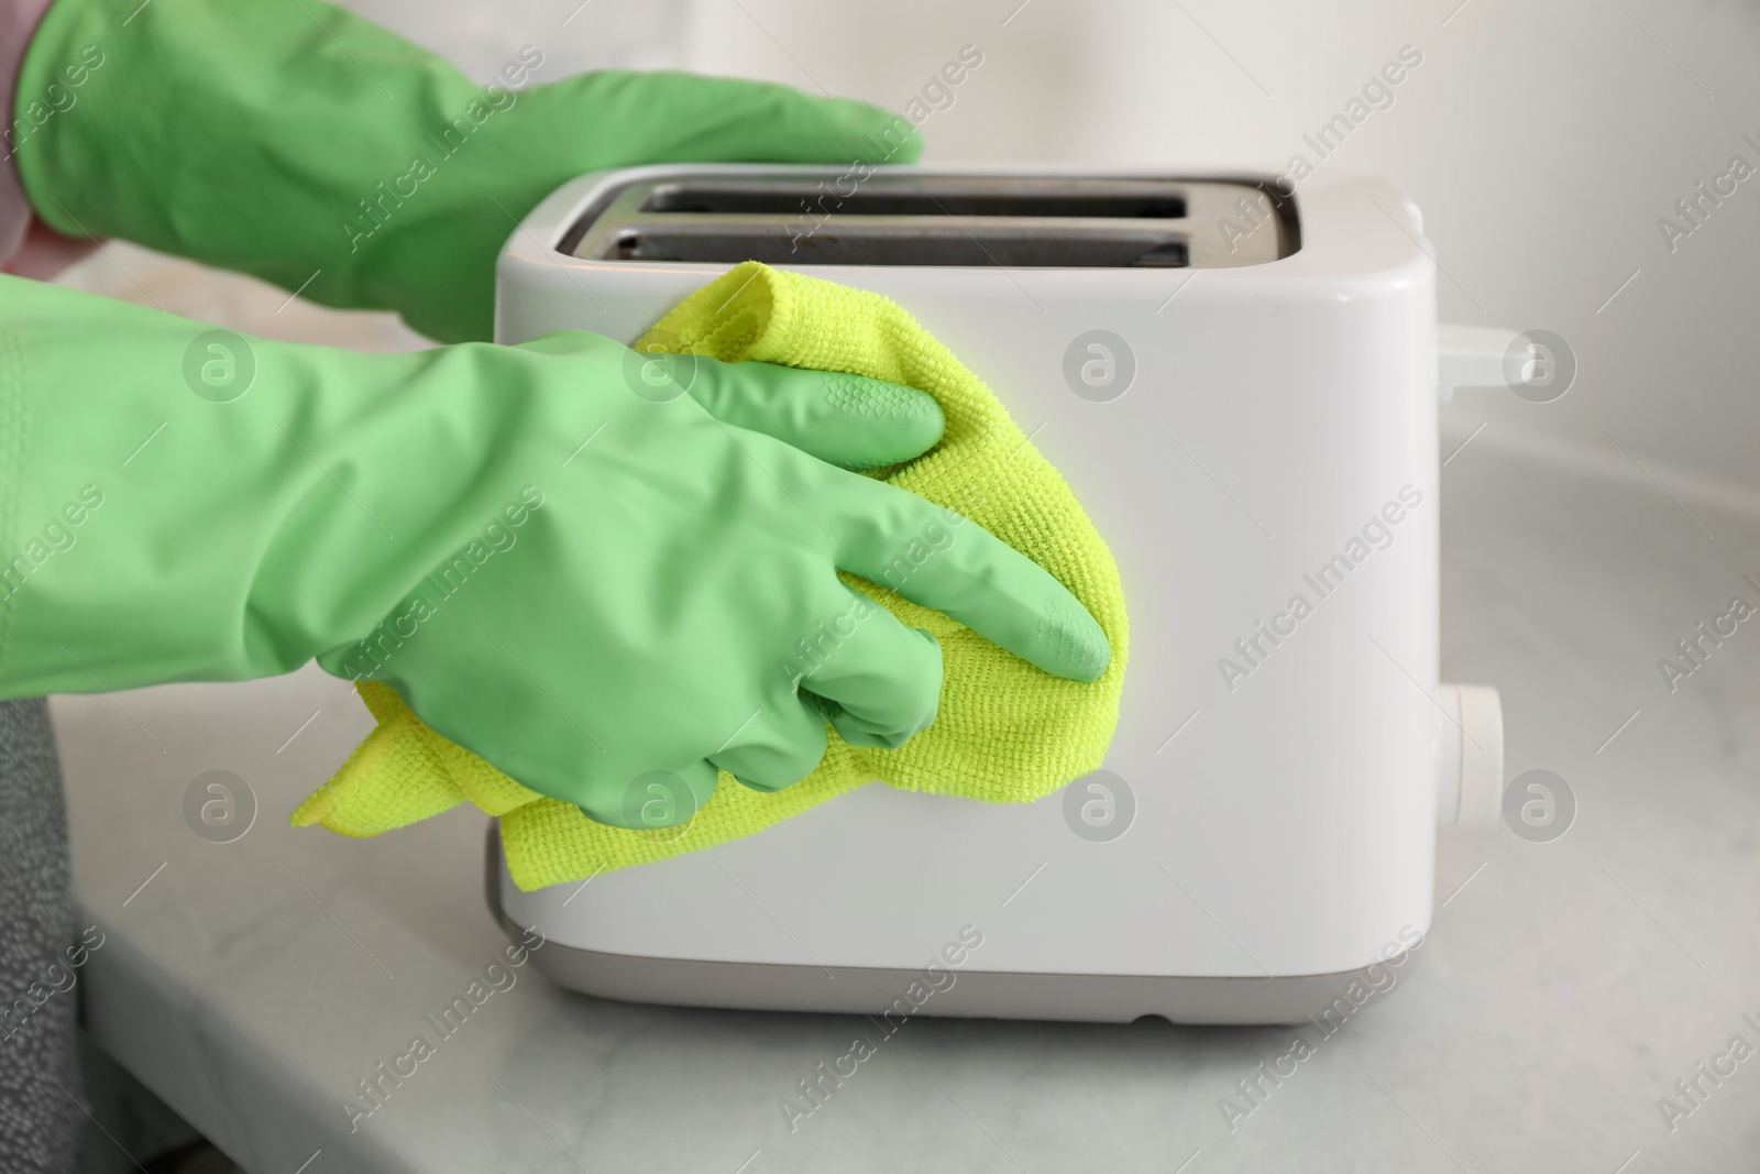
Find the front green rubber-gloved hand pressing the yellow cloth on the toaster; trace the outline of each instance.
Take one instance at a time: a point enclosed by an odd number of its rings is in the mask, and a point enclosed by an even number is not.
[[[356,354],[0,276],[0,695],[317,657],[602,822],[656,769],[785,787],[824,720],[892,746],[936,709],[935,639],[838,572],[1107,664],[1037,563],[836,466],[940,429],[850,375],[700,359],[683,394],[595,334]]]

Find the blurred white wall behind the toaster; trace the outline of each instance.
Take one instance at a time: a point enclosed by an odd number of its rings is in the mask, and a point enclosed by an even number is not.
[[[1575,387],[1470,393],[1448,429],[1760,507],[1760,176],[1674,252],[1660,216],[1760,169],[1760,9],[1734,0],[356,0],[488,72],[681,65],[901,107],[963,44],[931,160],[1281,171],[1401,46],[1424,62],[1325,167],[1424,209],[1443,317],[1563,334]],[[1753,134],[1755,143],[1742,136]],[[1635,278],[1632,275],[1637,275]],[[1450,280],[1452,278],[1452,280]],[[1621,290],[1621,283],[1632,278]],[[1616,290],[1621,290],[1617,296]],[[1609,301],[1612,297],[1612,301]]]

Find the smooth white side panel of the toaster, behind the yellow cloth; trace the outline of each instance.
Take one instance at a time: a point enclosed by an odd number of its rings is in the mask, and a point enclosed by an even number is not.
[[[815,269],[942,338],[1111,544],[1132,651],[1105,773],[1016,808],[875,785],[581,891],[503,884],[507,915],[605,954],[832,968],[977,926],[987,972],[1193,977],[1350,972],[1427,931],[1434,280],[1403,209],[1316,187],[1301,253],[1228,271]],[[502,338],[630,341],[715,271],[516,238]],[[1123,387],[1082,377],[1126,359]]]

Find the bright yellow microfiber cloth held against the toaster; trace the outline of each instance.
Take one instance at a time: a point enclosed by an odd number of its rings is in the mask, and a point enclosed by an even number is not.
[[[500,817],[507,866],[530,891],[750,836],[876,778],[901,790],[1026,803],[1100,766],[1125,678],[1118,567],[1058,470],[942,343],[887,297],[746,262],[679,303],[635,349],[848,371],[935,396],[947,417],[942,442],[887,481],[982,525],[1068,586],[1112,644],[1105,674],[1054,678],[940,613],[847,576],[942,642],[940,711],[898,750],[850,746],[829,732],[825,759],[799,783],[766,794],[723,773],[688,824],[632,831],[521,787],[422,725],[389,686],[361,681],[378,727],[299,804],[296,825],[377,836],[468,799]]]

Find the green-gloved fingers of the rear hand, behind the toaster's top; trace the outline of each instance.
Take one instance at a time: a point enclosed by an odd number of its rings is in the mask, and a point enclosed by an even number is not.
[[[616,127],[623,141],[641,144],[641,155],[628,162],[910,164],[922,153],[922,137],[910,120],[868,102],[810,97],[792,86],[602,70],[544,90],[565,99],[563,107],[576,109],[581,127]],[[590,162],[614,165],[602,155]]]

